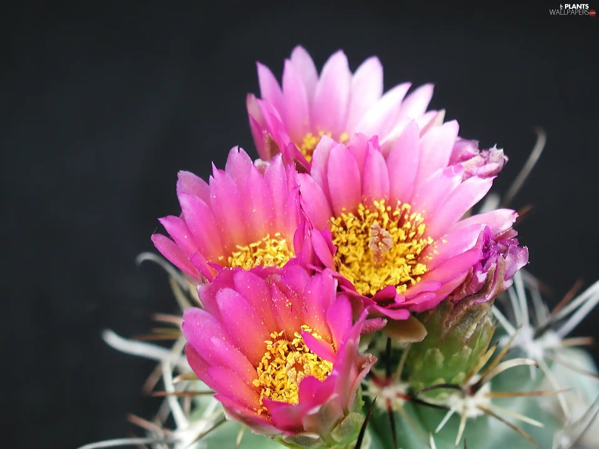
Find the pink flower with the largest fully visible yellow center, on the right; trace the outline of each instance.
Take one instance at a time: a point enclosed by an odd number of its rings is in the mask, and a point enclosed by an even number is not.
[[[338,272],[341,288],[390,318],[437,305],[485,256],[485,229],[499,235],[516,220],[503,209],[460,221],[498,170],[487,170],[478,150],[470,155],[476,171],[450,164],[456,142],[455,121],[423,136],[412,121],[387,155],[376,137],[356,134],[346,146],[325,136],[310,174],[298,174],[311,225],[337,247],[328,258],[322,248],[320,260]]]

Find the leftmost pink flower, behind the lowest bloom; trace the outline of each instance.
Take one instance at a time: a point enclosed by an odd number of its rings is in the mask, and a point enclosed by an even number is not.
[[[179,172],[181,216],[160,222],[172,240],[154,234],[156,248],[192,281],[210,281],[223,267],[283,266],[313,261],[311,229],[299,208],[295,169],[280,156],[256,167],[235,147],[210,183]],[[322,239],[322,237],[320,237]]]

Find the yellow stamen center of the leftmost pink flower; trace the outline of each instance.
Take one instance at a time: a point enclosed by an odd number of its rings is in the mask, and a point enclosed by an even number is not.
[[[262,240],[250,243],[247,246],[237,245],[237,251],[226,259],[231,268],[240,266],[244,269],[256,268],[256,266],[278,266],[282,268],[292,257],[294,251],[287,244],[286,239],[281,238],[277,232],[273,238],[267,234]],[[223,260],[224,257],[221,257]]]

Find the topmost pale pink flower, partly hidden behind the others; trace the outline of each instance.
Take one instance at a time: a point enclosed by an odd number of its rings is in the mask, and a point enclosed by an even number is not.
[[[426,112],[432,84],[406,96],[412,84],[403,83],[383,95],[383,66],[376,56],[352,75],[339,50],[325,62],[319,77],[308,52],[298,46],[285,60],[282,87],[261,63],[258,80],[262,98],[248,95],[247,112],[264,160],[280,151],[285,162],[307,169],[322,136],[343,143],[356,132],[379,136],[384,153],[412,119],[422,132],[443,122],[443,113]]]

